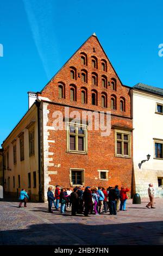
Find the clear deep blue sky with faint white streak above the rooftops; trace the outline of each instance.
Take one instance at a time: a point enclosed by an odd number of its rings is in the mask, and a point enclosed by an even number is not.
[[[161,0],[1,0],[0,143],[37,92],[96,32],[121,81],[163,88]]]

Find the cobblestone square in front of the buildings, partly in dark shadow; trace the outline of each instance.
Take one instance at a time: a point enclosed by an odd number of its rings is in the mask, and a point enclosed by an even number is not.
[[[0,245],[163,245],[163,199],[156,209],[127,202],[127,211],[71,216],[47,212],[47,203],[0,202]]]

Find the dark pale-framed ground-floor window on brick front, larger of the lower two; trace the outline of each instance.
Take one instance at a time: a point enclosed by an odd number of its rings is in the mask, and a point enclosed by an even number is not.
[[[81,169],[71,169],[71,185],[83,185],[84,182],[84,170]]]

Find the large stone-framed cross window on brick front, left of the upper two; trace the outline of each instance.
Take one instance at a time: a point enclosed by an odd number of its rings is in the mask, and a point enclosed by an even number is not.
[[[67,152],[87,153],[87,125],[67,123]]]

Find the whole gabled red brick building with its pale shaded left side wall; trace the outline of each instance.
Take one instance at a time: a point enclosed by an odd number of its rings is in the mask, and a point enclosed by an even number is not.
[[[123,184],[131,190],[130,88],[122,84],[95,34],[41,92],[28,94],[28,112],[2,144],[6,192],[16,194],[23,187],[43,202],[49,185]],[[105,125],[110,120],[110,135],[102,136],[95,125],[89,129],[88,114],[93,123],[99,114]],[[55,126],[56,115],[62,129]]]

